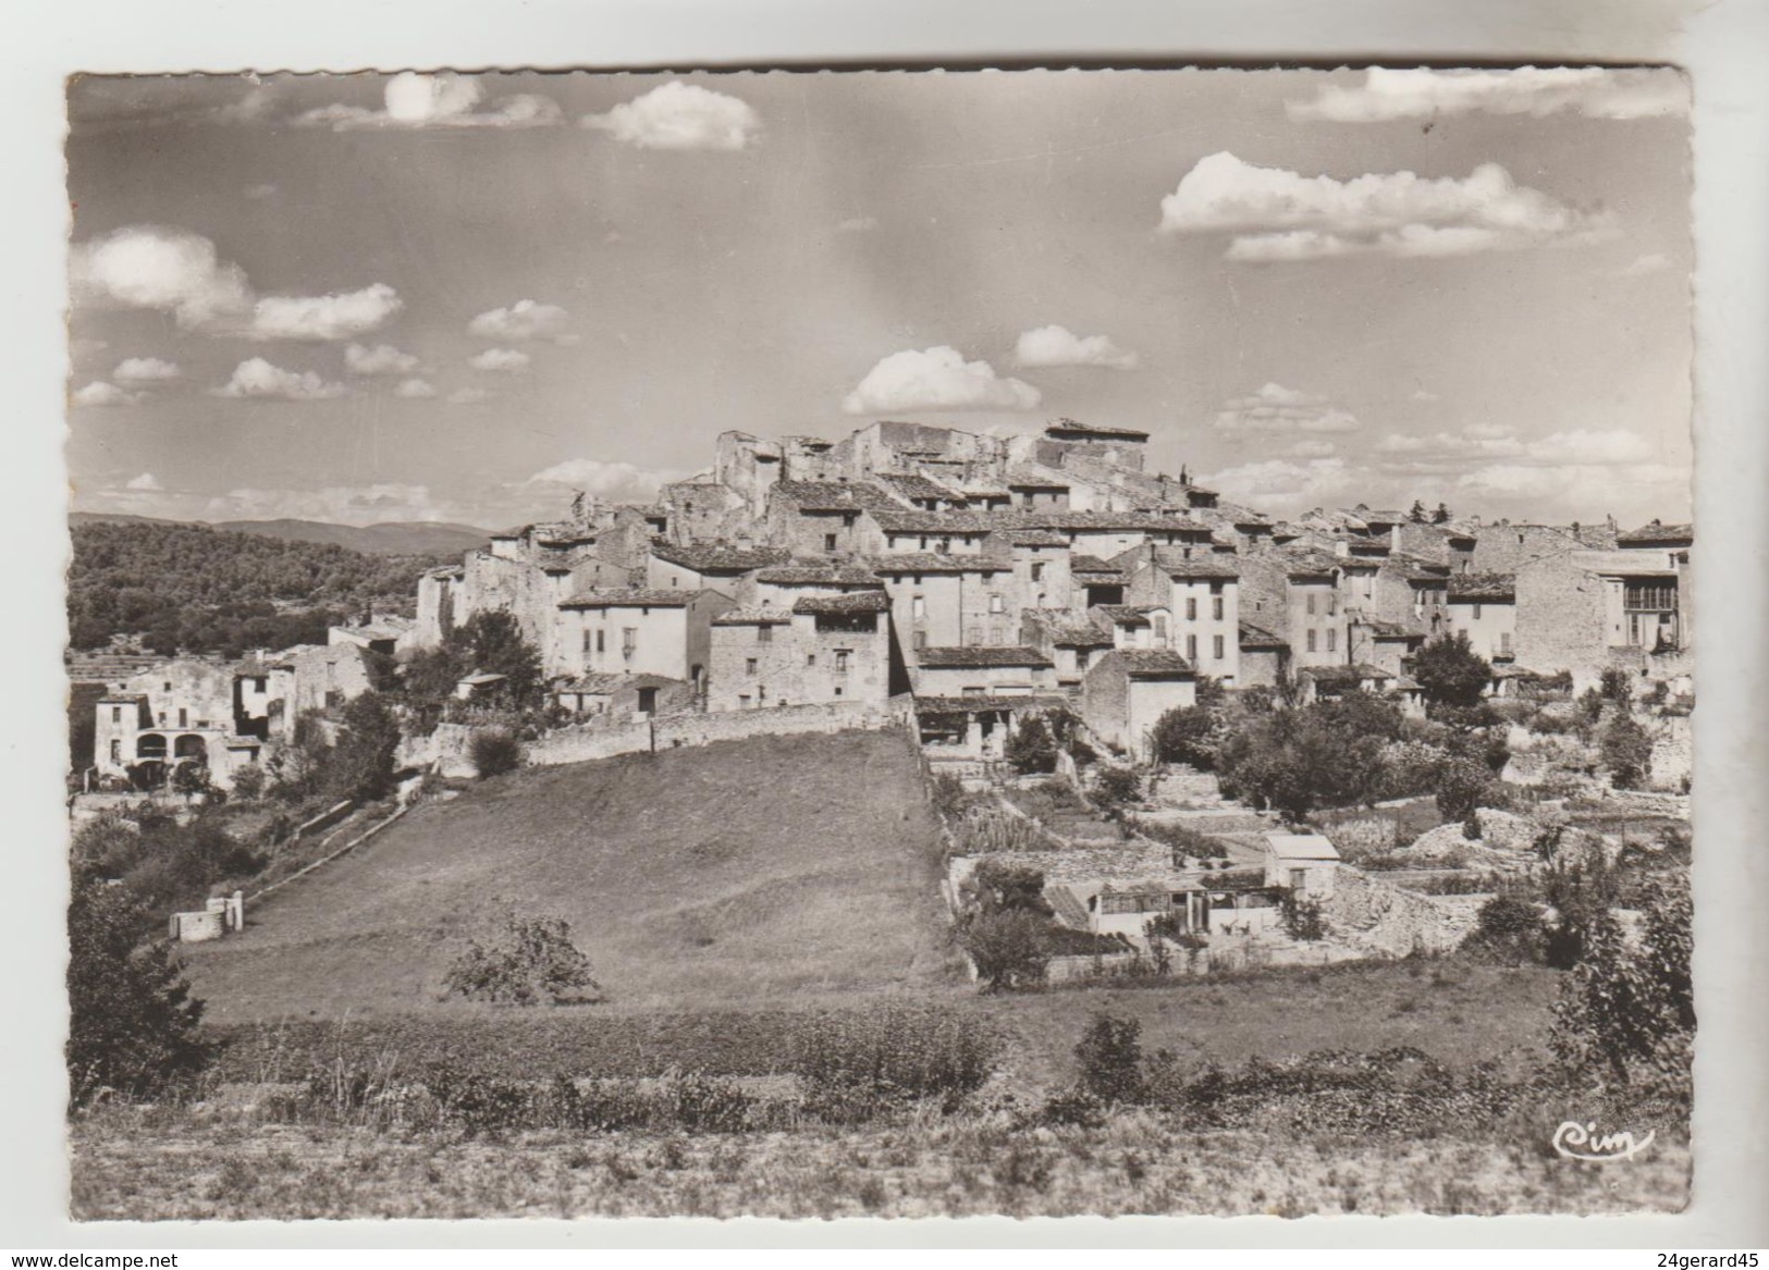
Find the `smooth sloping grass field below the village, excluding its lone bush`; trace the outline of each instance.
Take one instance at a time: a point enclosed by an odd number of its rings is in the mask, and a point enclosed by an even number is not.
[[[609,1003],[816,1005],[950,982],[934,815],[895,732],[536,768],[425,803],[188,946],[207,1021],[486,1014],[440,1001],[499,902],[563,916]]]

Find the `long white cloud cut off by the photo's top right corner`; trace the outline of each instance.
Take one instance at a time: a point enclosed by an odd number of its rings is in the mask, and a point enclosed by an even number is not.
[[[1444,115],[1558,115],[1650,119],[1682,115],[1689,94],[1675,71],[1601,67],[1520,67],[1516,71],[1383,69],[1357,87],[1325,87],[1311,101],[1284,106],[1290,119],[1373,124]]]

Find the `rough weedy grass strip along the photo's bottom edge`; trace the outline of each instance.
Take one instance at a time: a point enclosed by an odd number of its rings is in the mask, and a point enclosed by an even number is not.
[[[1143,1113],[1099,1128],[938,1118],[867,1130],[743,1136],[571,1134],[437,1141],[363,1128],[248,1136],[126,1116],[76,1123],[73,1215],[930,1217],[1122,1213],[1612,1213],[1679,1210],[1686,1137],[1587,1164],[1509,1141],[1194,1132]]]

